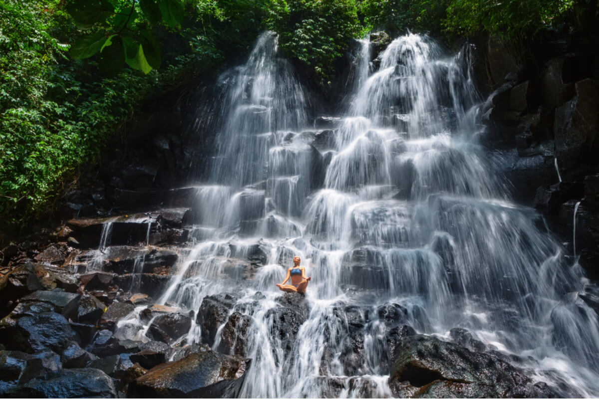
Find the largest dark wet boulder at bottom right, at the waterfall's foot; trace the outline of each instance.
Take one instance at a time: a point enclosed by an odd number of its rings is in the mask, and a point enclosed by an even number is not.
[[[389,386],[398,396],[534,397],[537,392],[523,370],[434,337],[406,337],[393,359]]]

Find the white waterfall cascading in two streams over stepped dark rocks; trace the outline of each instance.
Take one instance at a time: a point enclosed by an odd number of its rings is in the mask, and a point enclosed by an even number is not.
[[[580,270],[485,162],[464,58],[407,35],[372,74],[359,59],[359,87],[331,138],[310,129],[307,97],[277,58],[273,33],[220,78],[225,111],[196,189],[195,246],[160,301],[195,311],[206,296],[234,293],[231,313],[251,320],[241,396],[322,397],[331,381],[339,395],[392,395],[388,327],[377,313],[388,303],[407,309],[419,333],[467,328],[500,351],[530,355],[539,373],[598,394],[597,318],[568,295],[580,288]],[[257,247],[265,264],[235,273]],[[275,284],[294,255],[312,280],[290,343],[273,325]],[[350,313],[368,320],[364,358],[348,352]],[[198,327],[187,340],[201,341]]]

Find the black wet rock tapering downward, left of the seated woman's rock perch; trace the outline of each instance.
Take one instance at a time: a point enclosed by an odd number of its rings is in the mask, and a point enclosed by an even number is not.
[[[202,328],[202,342],[210,346],[214,344],[216,331],[226,323],[229,309],[232,309],[235,302],[237,297],[232,294],[207,296],[202,300],[196,318],[196,323]]]

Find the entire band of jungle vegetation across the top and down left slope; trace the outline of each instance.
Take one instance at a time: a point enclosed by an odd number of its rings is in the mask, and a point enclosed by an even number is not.
[[[516,42],[558,26],[573,2],[0,0],[0,230],[51,211],[144,102],[247,53],[264,29],[326,86],[368,32]]]

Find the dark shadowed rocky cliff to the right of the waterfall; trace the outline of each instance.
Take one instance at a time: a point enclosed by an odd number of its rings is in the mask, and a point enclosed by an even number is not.
[[[513,184],[568,242],[592,278],[599,276],[599,57],[593,35],[544,35],[518,61],[483,42],[480,79],[491,94],[482,108],[485,144]],[[577,207],[576,204],[579,203]]]

